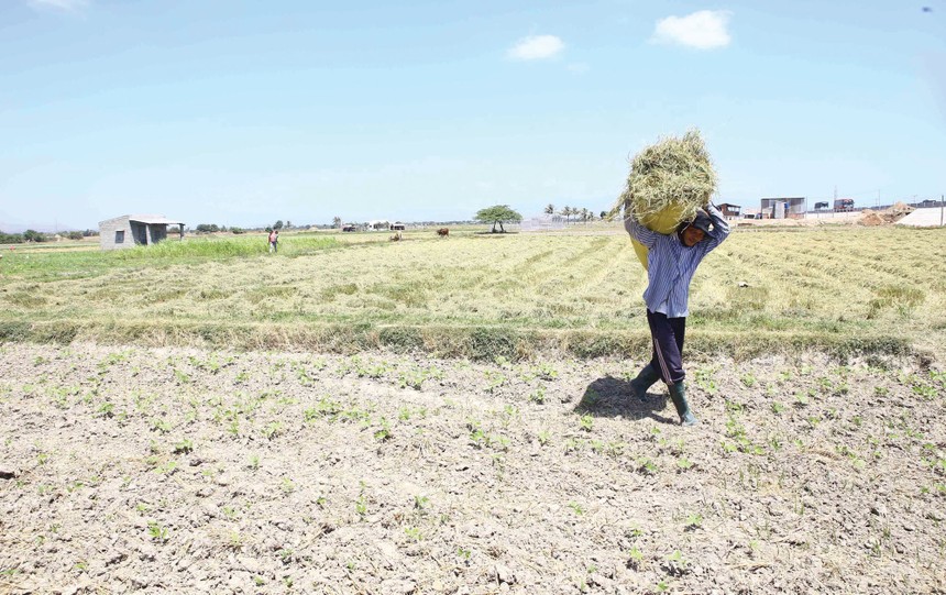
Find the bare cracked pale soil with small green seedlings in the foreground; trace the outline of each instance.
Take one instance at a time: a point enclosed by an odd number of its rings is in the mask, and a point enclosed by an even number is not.
[[[0,592],[943,593],[942,372],[0,345]]]

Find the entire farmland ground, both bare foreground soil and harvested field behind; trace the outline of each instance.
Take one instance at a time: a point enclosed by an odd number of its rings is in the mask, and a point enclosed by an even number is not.
[[[0,593],[946,593],[944,240],[735,232],[690,429],[613,229],[4,254]]]

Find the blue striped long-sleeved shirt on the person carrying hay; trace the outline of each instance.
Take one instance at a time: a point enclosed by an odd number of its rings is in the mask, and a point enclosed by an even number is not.
[[[678,233],[663,234],[641,225],[634,216],[624,220],[624,228],[631,238],[648,247],[647,289],[644,301],[651,312],[661,312],[668,318],[690,315],[688,301],[693,273],[711,250],[729,235],[729,225],[712,202],[706,213],[713,221],[713,231],[702,242],[686,247]]]

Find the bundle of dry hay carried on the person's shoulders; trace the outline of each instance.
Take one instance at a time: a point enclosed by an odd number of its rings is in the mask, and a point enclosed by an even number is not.
[[[715,191],[716,172],[700,131],[693,129],[682,139],[661,139],[631,159],[627,186],[609,217],[624,209],[625,217],[632,212],[646,224],[671,210],[678,221],[690,220]]]

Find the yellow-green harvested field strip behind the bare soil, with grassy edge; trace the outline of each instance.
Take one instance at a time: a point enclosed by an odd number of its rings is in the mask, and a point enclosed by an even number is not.
[[[646,276],[626,235],[290,235],[277,255],[258,239],[8,255],[0,337],[474,357],[649,349]],[[688,351],[925,349],[946,334],[944,239],[737,231],[694,278]]]

